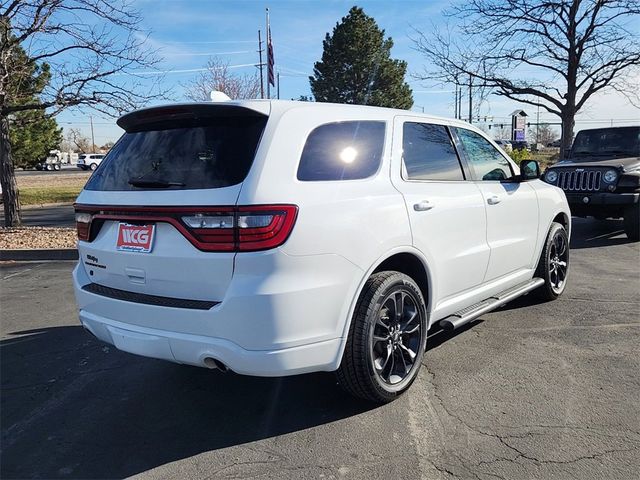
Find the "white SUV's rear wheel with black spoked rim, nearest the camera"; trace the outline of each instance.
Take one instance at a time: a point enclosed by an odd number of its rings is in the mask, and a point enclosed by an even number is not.
[[[399,311],[396,305],[402,306]],[[403,273],[375,273],[358,298],[336,371],[338,383],[356,397],[391,402],[416,379],[426,343],[427,315],[420,288]]]

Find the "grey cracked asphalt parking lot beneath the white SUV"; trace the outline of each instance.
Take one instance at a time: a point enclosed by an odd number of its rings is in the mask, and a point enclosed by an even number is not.
[[[132,356],[78,324],[72,263],[0,269],[2,478],[637,479],[640,244],[575,220],[570,285],[453,334],[383,407],[331,374]]]

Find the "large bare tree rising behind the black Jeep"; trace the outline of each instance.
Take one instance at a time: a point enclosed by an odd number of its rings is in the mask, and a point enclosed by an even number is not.
[[[431,63],[421,77],[471,78],[557,115],[561,153],[594,94],[617,90],[640,100],[637,0],[467,0],[445,13],[458,31],[417,31],[416,48]]]

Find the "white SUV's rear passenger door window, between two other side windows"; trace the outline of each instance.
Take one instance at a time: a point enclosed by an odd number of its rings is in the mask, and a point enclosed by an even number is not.
[[[408,180],[463,180],[458,155],[443,125],[407,122],[402,159]]]

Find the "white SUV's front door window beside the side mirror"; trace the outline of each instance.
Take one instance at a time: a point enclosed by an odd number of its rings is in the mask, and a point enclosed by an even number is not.
[[[457,129],[477,180],[505,180],[513,176],[506,158],[489,141],[471,130]]]

